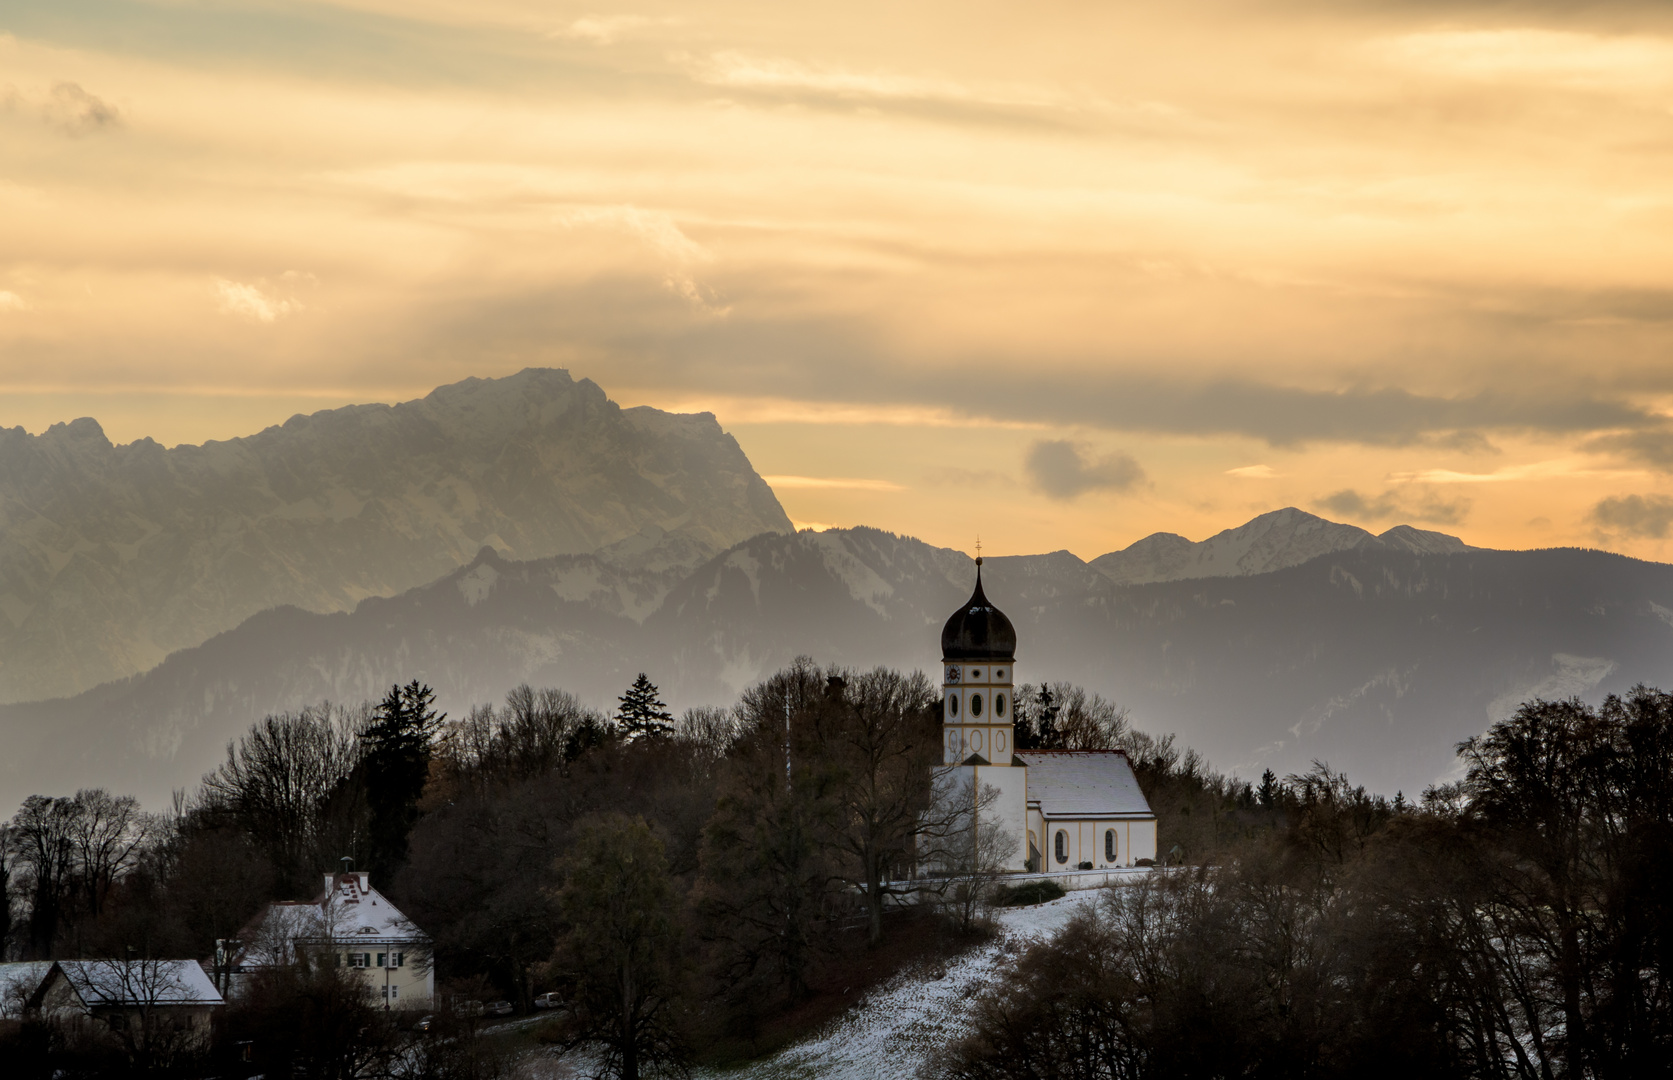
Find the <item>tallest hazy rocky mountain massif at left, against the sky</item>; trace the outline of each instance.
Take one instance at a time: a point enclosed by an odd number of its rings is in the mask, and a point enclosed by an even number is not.
[[[622,410],[565,371],[172,450],[87,418],[0,431],[0,700],[146,670],[264,609],[346,610],[483,545],[539,558],[642,527],[704,555],[791,528],[711,415]]]

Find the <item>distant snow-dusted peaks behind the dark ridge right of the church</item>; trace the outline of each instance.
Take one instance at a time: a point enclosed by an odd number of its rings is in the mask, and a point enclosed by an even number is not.
[[[1310,558],[1358,547],[1442,553],[1469,550],[1457,537],[1395,525],[1380,537],[1285,507],[1193,543],[1176,533],[1151,533],[1119,552],[1092,560],[1118,585],[1179,582],[1198,577],[1270,573]]]

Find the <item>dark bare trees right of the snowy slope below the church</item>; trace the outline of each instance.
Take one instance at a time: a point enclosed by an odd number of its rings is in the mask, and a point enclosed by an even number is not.
[[[1323,766],[1263,777],[1276,828],[1104,891],[994,980],[939,1073],[1665,1075],[1673,695],[1529,702],[1459,754],[1412,804]]]

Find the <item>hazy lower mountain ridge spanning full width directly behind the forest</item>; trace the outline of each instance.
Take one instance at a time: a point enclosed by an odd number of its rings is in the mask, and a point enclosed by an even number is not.
[[[965,555],[873,528],[758,535],[694,570],[688,543],[644,533],[525,562],[483,550],[353,612],[263,612],[144,675],[3,707],[0,799],[99,782],[157,801],[264,712],[405,679],[457,714],[524,680],[607,706],[641,670],[676,707],[729,704],[798,654],[932,672],[939,627],[974,578]],[[1454,767],[1454,742],[1524,697],[1673,685],[1663,563],[1380,542],[1265,573],[1118,585],[1099,562],[987,560],[1019,679],[1079,682],[1245,774],[1323,759],[1415,794]]]

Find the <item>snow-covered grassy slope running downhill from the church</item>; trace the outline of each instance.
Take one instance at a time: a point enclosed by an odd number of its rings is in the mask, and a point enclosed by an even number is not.
[[[1064,896],[997,914],[994,941],[945,968],[945,976],[902,975],[836,1018],[825,1032],[734,1070],[696,1070],[701,1080],[877,1080],[912,1077],[935,1050],[969,1030],[970,1001],[1029,941],[1056,933],[1091,896]]]

